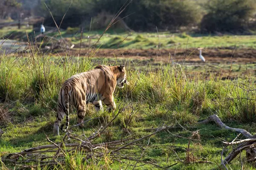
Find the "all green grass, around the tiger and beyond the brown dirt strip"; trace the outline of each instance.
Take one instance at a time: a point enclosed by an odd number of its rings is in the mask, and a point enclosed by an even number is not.
[[[5,30],[5,34],[10,33]],[[13,31],[13,30],[11,30]],[[25,30],[20,30],[20,35],[25,35]],[[73,33],[76,29],[70,29],[72,34],[62,31],[62,37],[80,44],[80,34]],[[113,30],[111,30],[113,31]],[[91,44],[99,38],[99,31],[85,32],[84,37],[93,37]],[[30,32],[31,34],[31,32]],[[127,33],[128,34],[128,33]],[[194,48],[194,47],[239,47],[254,48],[255,36],[205,36],[155,33],[126,33],[107,32],[99,41],[101,48],[158,48],[159,41],[163,48]],[[51,36],[56,33],[50,34]],[[26,37],[26,36],[25,36]],[[60,37],[58,37],[60,38]],[[125,39],[125,40],[124,40]],[[189,41],[188,41],[189,39]],[[82,40],[83,43],[87,39]],[[176,47],[175,47],[176,46]],[[133,103],[131,122],[128,117],[132,111],[129,106],[114,120],[108,130],[115,133],[103,134],[98,141],[106,142],[118,140],[122,133],[119,132],[126,125],[134,139],[148,135],[143,129],[159,127],[160,125],[175,125],[179,122],[183,126],[197,126],[201,142],[192,142],[190,148],[195,160],[208,160],[213,164],[176,164],[169,169],[218,169],[220,165],[220,153],[223,149],[221,139],[232,141],[237,133],[219,129],[214,124],[198,125],[197,122],[206,119],[209,115],[217,114],[226,125],[236,128],[244,128],[253,133],[256,130],[254,120],[256,118],[256,101],[254,91],[244,91],[243,88],[256,88],[255,64],[234,63],[231,65],[221,63],[172,65],[170,63],[156,63],[154,59],[119,59],[119,58],[81,58],[73,56],[58,56],[40,54],[32,50],[26,57],[13,57],[0,54],[0,128],[5,131],[0,138],[0,157],[6,153],[19,152],[29,147],[49,144],[46,135],[54,142],[60,142],[60,137],[52,136],[53,122],[55,121],[58,92],[62,82],[70,76],[88,71],[99,63],[121,65],[125,62],[127,67],[128,82],[123,89],[116,89],[116,104]],[[147,64],[145,64],[147,63]],[[230,76],[233,80],[225,79]],[[243,85],[243,84],[245,85]],[[232,100],[227,100],[233,98]],[[239,99],[238,99],[239,98]],[[105,107],[106,110],[106,107]],[[3,112],[4,111],[4,112]],[[71,109],[70,125],[76,124],[76,112]],[[100,120],[109,121],[113,114],[96,113],[92,105],[88,105],[85,119],[100,117]],[[176,121],[177,120],[177,121]],[[74,133],[90,135],[98,129],[100,123],[94,120],[85,125],[84,129],[75,128]],[[191,133],[185,130],[172,130],[172,134],[189,137]],[[150,138],[151,145],[176,145],[187,147],[188,140],[175,137],[169,132],[160,132]],[[126,134],[128,135],[128,134]],[[147,144],[145,139],[139,144]],[[231,151],[228,148],[224,156]],[[122,151],[123,154],[140,155],[143,149],[137,146],[131,150]],[[176,163],[177,156],[184,160],[184,150],[170,147],[150,147],[145,150],[142,160],[154,159],[163,167]],[[125,169],[126,164],[113,161],[107,165],[105,160],[83,163],[81,153],[74,153],[66,157],[67,163],[63,169]],[[245,157],[245,153],[242,154]],[[128,161],[127,161],[128,163]],[[130,162],[131,163],[131,162]],[[140,165],[137,164],[137,165]],[[5,164],[14,168],[12,164]],[[229,165],[232,169],[240,169],[239,159],[234,159]],[[129,167],[131,169],[133,167]],[[55,167],[58,169],[58,167]],[[158,169],[152,165],[144,165],[136,169]],[[244,164],[244,169],[253,169],[250,164]]]

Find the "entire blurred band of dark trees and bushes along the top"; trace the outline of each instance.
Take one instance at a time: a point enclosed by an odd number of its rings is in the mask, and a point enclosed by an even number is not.
[[[250,34],[256,28],[256,0],[1,0],[0,19],[40,16],[45,26],[55,26],[48,7],[61,28],[89,30],[92,22],[97,30],[106,28],[128,3],[116,19],[123,22],[115,28],[234,34]]]

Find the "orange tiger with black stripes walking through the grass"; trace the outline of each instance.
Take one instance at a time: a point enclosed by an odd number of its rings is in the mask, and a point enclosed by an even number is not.
[[[54,122],[53,134],[59,136],[61,120],[66,115],[66,127],[69,126],[69,104],[75,106],[77,123],[83,127],[85,108],[93,103],[97,112],[103,111],[102,102],[108,106],[108,111],[116,109],[113,93],[116,86],[123,88],[127,83],[125,66],[98,65],[93,70],[73,75],[61,86],[58,94],[57,116]]]

